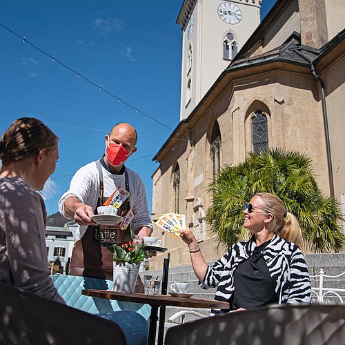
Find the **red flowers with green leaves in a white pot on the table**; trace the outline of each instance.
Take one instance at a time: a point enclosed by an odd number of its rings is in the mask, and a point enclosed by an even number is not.
[[[112,253],[114,286],[112,290],[133,293],[139,273],[139,264],[148,255],[145,244],[124,242],[112,244],[108,250]]]

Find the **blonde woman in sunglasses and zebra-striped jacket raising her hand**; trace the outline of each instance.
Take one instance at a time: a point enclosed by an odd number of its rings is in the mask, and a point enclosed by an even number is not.
[[[213,265],[202,257],[193,233],[181,231],[201,287],[217,287],[215,299],[230,302],[229,311],[268,304],[311,302],[311,282],[302,250],[302,233],[282,200],[255,195],[244,210],[248,242],[234,244]],[[211,311],[211,315],[228,311]]]

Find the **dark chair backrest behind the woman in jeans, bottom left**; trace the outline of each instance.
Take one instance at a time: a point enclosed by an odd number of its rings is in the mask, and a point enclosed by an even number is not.
[[[0,344],[126,345],[107,319],[0,283]]]

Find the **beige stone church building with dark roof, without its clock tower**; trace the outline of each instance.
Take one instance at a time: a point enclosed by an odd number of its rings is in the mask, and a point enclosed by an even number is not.
[[[255,3],[230,3],[242,2]],[[207,262],[226,249],[217,248],[204,220],[208,184],[219,168],[239,164],[250,151],[305,152],[320,188],[344,201],[344,19],[340,0],[278,0],[188,115],[181,89],[181,121],[154,158],[159,168],[152,175],[152,213],[154,219],[186,214]],[[223,39],[217,34],[215,41]],[[190,264],[180,239],[158,228],[155,235],[168,248],[172,266]],[[150,268],[161,267],[165,255],[152,258]]]

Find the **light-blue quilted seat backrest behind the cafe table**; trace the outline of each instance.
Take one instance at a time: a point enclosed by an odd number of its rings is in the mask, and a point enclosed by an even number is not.
[[[75,275],[52,275],[51,279],[66,304],[80,311],[91,314],[108,313],[110,311],[135,311],[145,319],[150,317],[151,307],[148,304],[117,302],[81,295],[81,290],[88,288],[111,290],[113,282],[110,280]]]

